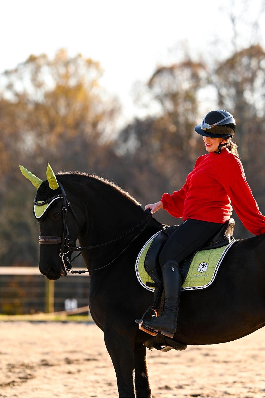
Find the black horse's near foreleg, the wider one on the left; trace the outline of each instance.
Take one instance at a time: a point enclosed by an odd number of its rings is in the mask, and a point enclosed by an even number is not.
[[[135,398],[133,369],[133,335],[118,333],[113,328],[104,328],[104,340],[117,377],[119,397]]]

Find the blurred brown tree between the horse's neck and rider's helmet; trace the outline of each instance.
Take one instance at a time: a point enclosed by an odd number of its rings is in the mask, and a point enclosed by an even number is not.
[[[117,151],[126,155],[126,169],[130,170],[126,189],[140,202],[153,203],[164,192],[180,189],[194,167],[203,150],[201,137],[194,131],[197,96],[207,78],[204,64],[186,59],[157,68],[147,83],[148,97],[159,103],[161,115],[136,119],[125,127]],[[176,223],[165,212],[157,215],[164,222]]]

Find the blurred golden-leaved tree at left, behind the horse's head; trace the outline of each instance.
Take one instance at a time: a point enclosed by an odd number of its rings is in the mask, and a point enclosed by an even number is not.
[[[2,76],[2,264],[37,261],[38,229],[27,211],[35,189],[19,164],[43,180],[47,162],[55,172],[104,168],[119,104],[99,86],[101,75],[98,62],[60,50],[53,60],[31,55]]]

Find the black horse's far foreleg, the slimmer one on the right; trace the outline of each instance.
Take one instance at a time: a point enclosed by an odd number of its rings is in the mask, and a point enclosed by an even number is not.
[[[149,385],[146,348],[141,343],[135,343],[134,346],[134,385],[137,398],[151,397],[151,388]]]

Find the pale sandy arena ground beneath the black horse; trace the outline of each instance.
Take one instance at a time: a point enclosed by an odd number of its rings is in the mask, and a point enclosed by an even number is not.
[[[117,397],[94,324],[0,322],[0,397]],[[148,351],[153,397],[265,397],[265,328],[230,343]]]

